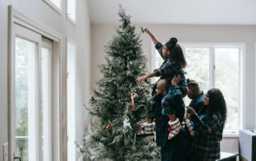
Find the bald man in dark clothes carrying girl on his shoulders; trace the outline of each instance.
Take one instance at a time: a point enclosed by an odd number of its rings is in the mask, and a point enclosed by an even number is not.
[[[186,133],[182,129],[178,135],[169,140],[168,115],[173,113],[172,110],[175,109],[177,118],[182,121],[185,115],[185,105],[179,86],[168,84],[170,83],[166,80],[158,81],[157,94],[148,103],[149,108],[151,108],[148,117],[152,120],[155,118],[156,143],[158,147],[161,147],[162,161],[169,161],[170,159],[183,161],[186,158]],[[153,131],[154,128],[151,128],[151,132]]]

